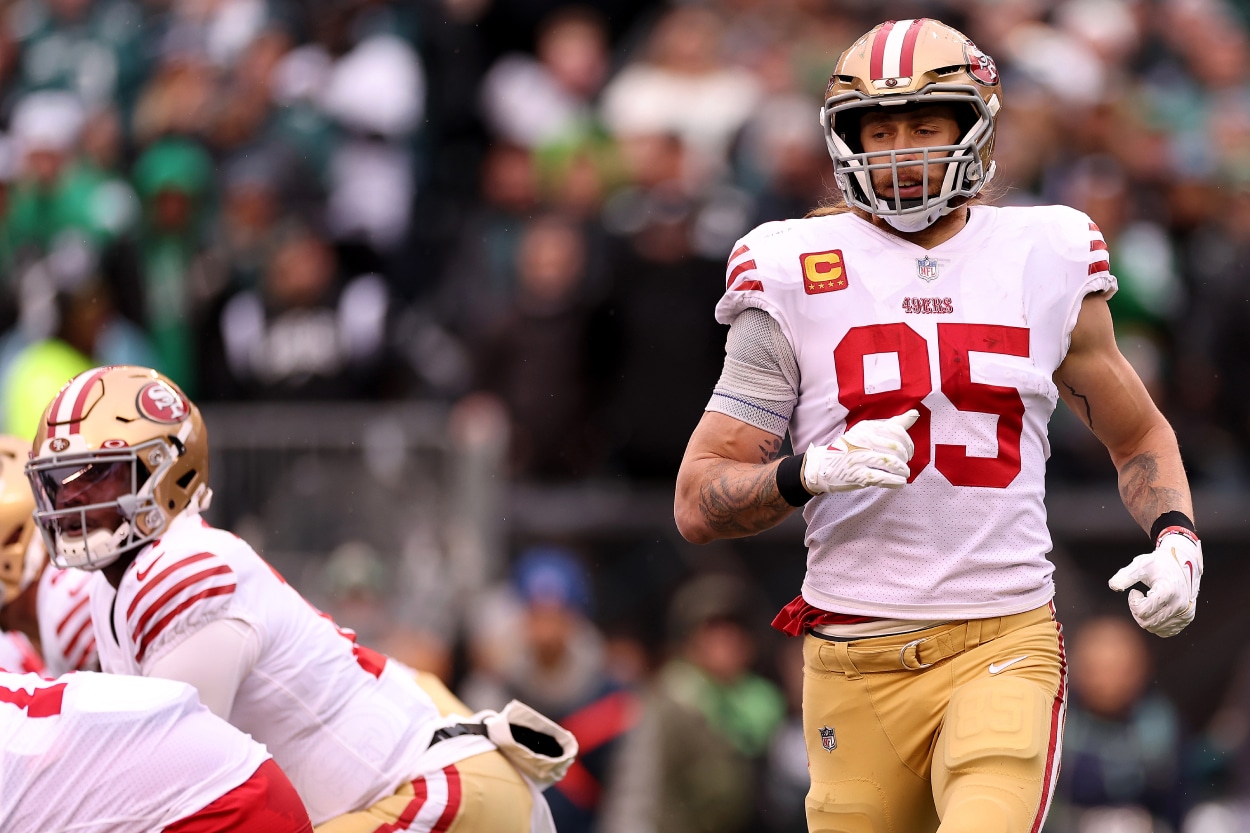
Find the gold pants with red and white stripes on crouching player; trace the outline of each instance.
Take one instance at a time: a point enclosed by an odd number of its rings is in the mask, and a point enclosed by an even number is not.
[[[472,712],[442,682],[418,672],[442,715]],[[402,784],[372,807],[319,824],[314,833],[529,833],[530,789],[499,752],[484,752]]]

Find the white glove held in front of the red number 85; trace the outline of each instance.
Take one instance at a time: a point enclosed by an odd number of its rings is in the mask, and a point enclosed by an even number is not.
[[[906,485],[908,462],[916,450],[908,429],[919,418],[920,411],[911,409],[890,419],[865,419],[829,445],[809,445],[802,455],[802,484],[812,494]]]

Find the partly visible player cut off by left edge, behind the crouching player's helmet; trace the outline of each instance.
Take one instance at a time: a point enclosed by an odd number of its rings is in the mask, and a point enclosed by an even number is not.
[[[0,668],[60,677],[99,670],[84,570],[48,567],[44,539],[35,534],[35,498],[24,468],[30,443],[0,435]],[[15,665],[14,649],[26,660]],[[38,665],[31,665],[34,659]]]

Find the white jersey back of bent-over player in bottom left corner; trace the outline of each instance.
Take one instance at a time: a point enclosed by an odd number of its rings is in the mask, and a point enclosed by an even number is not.
[[[186,683],[0,674],[5,833],[150,833],[204,809],[268,758]]]

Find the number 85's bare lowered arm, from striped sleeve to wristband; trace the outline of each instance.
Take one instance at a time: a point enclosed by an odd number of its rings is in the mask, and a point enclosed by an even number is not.
[[[1138,525],[1149,530],[1172,509],[1194,517],[1176,434],[1120,354],[1102,295],[1086,295],[1081,303],[1055,385],[1110,452],[1120,473],[1120,498]]]

